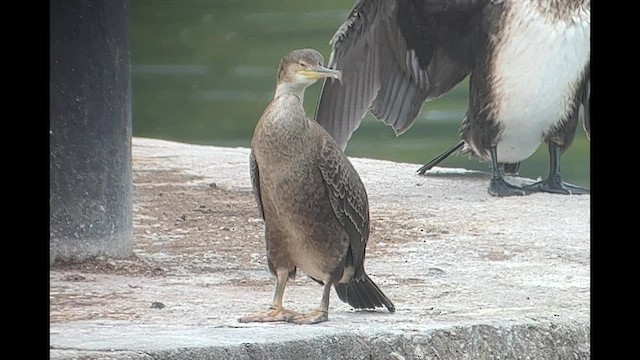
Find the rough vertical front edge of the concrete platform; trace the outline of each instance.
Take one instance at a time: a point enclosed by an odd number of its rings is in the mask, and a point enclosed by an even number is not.
[[[120,334],[107,335],[115,350],[94,351],[52,350],[52,359],[585,359],[589,358],[589,328],[584,324],[555,325],[544,322],[514,324],[510,326],[462,325],[448,327],[422,327],[419,329],[368,333],[327,332],[324,335],[306,334],[306,329],[291,331],[277,328],[261,332],[277,333],[279,338],[292,336],[296,340],[261,342],[245,339],[236,344],[234,334],[243,337],[243,330],[220,331],[204,326],[199,329],[176,329],[154,333],[155,345],[131,344],[120,341],[123,334],[132,340],[148,335],[149,327],[120,324],[113,328]],[[313,333],[314,331],[312,331]],[[112,334],[114,335],[114,334]],[[172,341],[190,337],[190,345],[174,346]],[[191,341],[191,340],[190,340]],[[218,344],[216,344],[218,343]],[[163,345],[160,345],[163,344]],[[106,341],[105,341],[106,345]],[[77,345],[90,348],[91,345]],[[123,348],[138,348],[123,351]]]

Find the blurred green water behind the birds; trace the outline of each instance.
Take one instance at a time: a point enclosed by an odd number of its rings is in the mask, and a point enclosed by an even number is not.
[[[314,48],[329,59],[329,40],[353,0],[135,0],[131,2],[133,135],[191,144],[249,147],[273,98],[280,58]],[[321,82],[305,93],[313,116]],[[396,137],[371,115],[354,133],[354,157],[415,163],[416,170],[457,143],[467,81],[423,106],[413,127]],[[520,175],[548,173],[540,149]],[[590,186],[590,147],[582,123],[561,162],[565,181]],[[488,171],[487,163],[452,156],[440,166]]]

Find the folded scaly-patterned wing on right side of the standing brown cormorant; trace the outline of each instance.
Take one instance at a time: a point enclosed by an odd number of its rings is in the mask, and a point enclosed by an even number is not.
[[[359,278],[364,273],[364,254],[369,240],[367,192],[353,165],[333,140],[324,140],[319,160],[331,207],[349,235],[354,276]]]

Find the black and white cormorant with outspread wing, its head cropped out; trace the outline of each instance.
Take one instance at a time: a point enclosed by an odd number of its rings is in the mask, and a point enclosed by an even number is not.
[[[331,40],[329,67],[344,76],[325,81],[316,120],[343,149],[367,111],[400,135],[423,102],[470,76],[461,142],[451,150],[491,161],[490,194],[589,193],[561,180],[560,157],[581,104],[590,131],[590,7],[590,0],[360,0]],[[499,165],[517,171],[543,141],[549,176],[507,183]]]

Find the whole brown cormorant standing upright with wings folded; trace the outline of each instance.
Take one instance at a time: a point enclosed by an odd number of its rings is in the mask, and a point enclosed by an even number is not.
[[[304,111],[309,85],[324,77],[340,79],[339,71],[323,63],[312,49],[295,50],[281,60],[274,99],[253,135],[251,180],[277,285],[271,308],[240,322],[327,321],[332,285],[356,309],[395,310],[364,270],[369,239],[364,185],[340,146]],[[282,307],[287,280],[297,269],[324,285],[320,307],[309,314]]]

